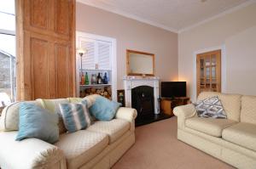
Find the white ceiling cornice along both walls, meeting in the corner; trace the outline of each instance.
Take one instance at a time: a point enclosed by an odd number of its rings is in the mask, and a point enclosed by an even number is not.
[[[184,27],[184,28],[179,29],[179,30],[177,30],[175,28],[172,28],[172,27],[169,27],[169,26],[166,26],[166,25],[162,25],[162,24],[160,24],[158,22],[154,22],[152,20],[143,19],[142,17],[138,17],[138,16],[136,16],[134,14],[128,14],[128,13],[126,13],[124,11],[121,11],[121,10],[119,10],[117,8],[108,8],[108,7],[102,6],[102,5],[98,4],[98,3],[84,2],[84,0],[77,0],[77,2],[84,3],[86,5],[89,5],[89,6],[92,6],[92,7],[95,7],[95,8],[101,8],[101,9],[106,10],[108,12],[111,12],[111,13],[114,13],[114,14],[119,14],[119,15],[125,16],[126,18],[130,18],[132,20],[138,20],[138,21],[143,22],[145,24],[153,25],[153,26],[159,27],[161,29],[164,29],[166,31],[172,31],[174,33],[182,33],[183,31],[189,31],[190,29],[193,29],[193,28],[195,28],[195,27],[197,27],[199,25],[203,25],[203,24],[205,24],[205,23],[207,23],[207,22],[209,22],[211,20],[215,20],[215,19],[217,19],[219,17],[222,17],[225,14],[230,14],[230,13],[236,11],[236,10],[239,10],[241,8],[245,8],[245,7],[247,7],[250,4],[256,3],[256,0],[249,0],[249,1],[245,2],[245,3],[241,3],[240,5],[238,5],[238,6],[234,7],[234,8],[230,8],[230,9],[228,9],[228,10],[226,10],[226,11],[220,13],[220,14],[214,15],[214,16],[208,18],[207,20],[202,20],[200,22],[195,23],[194,25],[189,25],[189,26]],[[96,2],[96,1],[94,1],[94,2]]]

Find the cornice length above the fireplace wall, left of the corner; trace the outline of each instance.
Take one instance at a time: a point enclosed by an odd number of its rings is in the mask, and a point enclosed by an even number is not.
[[[174,29],[172,27],[169,27],[169,26],[166,26],[166,25],[162,25],[162,24],[154,22],[152,20],[143,19],[143,18],[138,17],[138,16],[136,16],[134,14],[125,13],[125,12],[119,10],[119,9],[106,8],[106,7],[103,7],[102,5],[98,5],[96,3],[84,2],[83,0],[77,0],[77,2],[84,3],[86,5],[89,5],[89,6],[92,6],[92,7],[95,7],[95,8],[101,8],[103,10],[107,10],[108,12],[111,12],[111,13],[114,13],[114,14],[119,14],[119,15],[125,16],[126,18],[130,18],[132,20],[138,20],[138,21],[143,22],[143,23],[148,24],[148,25],[154,25],[155,27],[159,27],[159,28],[164,29],[166,31],[172,31],[174,33],[178,32],[177,29]]]

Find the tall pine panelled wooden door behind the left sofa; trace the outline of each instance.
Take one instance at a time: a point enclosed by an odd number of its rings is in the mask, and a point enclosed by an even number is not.
[[[75,1],[16,0],[17,99],[75,96]]]

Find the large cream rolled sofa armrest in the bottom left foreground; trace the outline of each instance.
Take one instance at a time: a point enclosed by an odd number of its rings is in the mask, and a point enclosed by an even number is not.
[[[61,149],[37,138],[15,141],[17,132],[0,132],[0,167],[66,169]]]

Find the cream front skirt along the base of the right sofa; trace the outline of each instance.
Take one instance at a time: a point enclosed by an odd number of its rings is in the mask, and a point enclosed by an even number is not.
[[[206,138],[204,138],[204,135]],[[215,138],[204,133],[197,135],[182,129],[177,129],[177,139],[231,166],[241,169],[255,169],[256,167],[256,158],[253,157],[256,153],[253,152],[253,150],[242,148],[221,138]],[[242,153],[242,151],[245,153]]]

